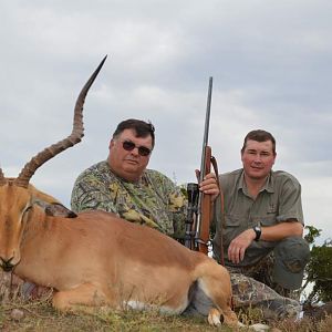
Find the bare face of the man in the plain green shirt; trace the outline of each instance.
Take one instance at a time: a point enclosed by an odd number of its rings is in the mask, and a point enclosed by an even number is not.
[[[248,139],[241,154],[245,175],[250,179],[264,179],[276,160],[272,142],[257,142]]]

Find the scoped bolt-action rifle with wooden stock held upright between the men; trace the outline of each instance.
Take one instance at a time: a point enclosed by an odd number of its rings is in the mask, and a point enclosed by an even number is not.
[[[203,152],[199,173],[199,183],[210,173],[211,147],[208,146],[209,121],[211,110],[212,77],[209,77]],[[217,173],[218,175],[218,173]],[[193,250],[208,253],[210,243],[211,199],[198,190],[198,184],[187,185],[188,208],[186,218],[185,246]]]

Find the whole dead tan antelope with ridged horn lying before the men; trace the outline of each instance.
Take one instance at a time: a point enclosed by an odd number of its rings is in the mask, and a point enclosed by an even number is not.
[[[104,211],[60,216],[50,208],[56,200],[29,185],[41,165],[81,141],[84,98],[104,61],[80,93],[72,134],[37,154],[17,178],[0,168],[0,264],[52,287],[60,310],[128,305],[179,314],[204,292],[208,322],[218,325],[224,315],[236,325],[229,273],[211,258]]]

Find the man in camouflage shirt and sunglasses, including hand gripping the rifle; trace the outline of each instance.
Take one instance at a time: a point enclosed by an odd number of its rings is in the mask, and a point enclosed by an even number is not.
[[[91,166],[77,177],[72,209],[76,212],[105,210],[181,238],[186,199],[168,177],[146,169],[154,144],[151,123],[139,120],[120,123],[110,143],[107,160]],[[216,199],[219,188],[214,174],[206,176],[200,190]]]

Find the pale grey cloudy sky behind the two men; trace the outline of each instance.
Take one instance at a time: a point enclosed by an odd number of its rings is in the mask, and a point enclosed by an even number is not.
[[[84,107],[85,136],[32,183],[69,205],[75,177],[106,158],[124,118],[151,120],[151,168],[177,183],[199,167],[209,76],[209,144],[239,168],[247,132],[277,138],[274,169],[302,184],[305,221],[331,237],[330,0],[1,1],[0,165],[6,176],[71,133],[76,96],[105,54]]]

